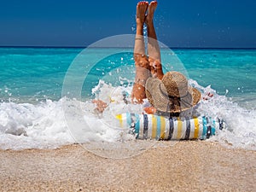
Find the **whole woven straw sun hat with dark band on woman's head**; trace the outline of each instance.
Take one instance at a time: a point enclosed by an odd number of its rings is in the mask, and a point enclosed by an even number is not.
[[[183,112],[201,99],[201,92],[190,87],[186,77],[178,72],[168,72],[162,80],[149,78],[145,88],[148,102],[165,113]]]

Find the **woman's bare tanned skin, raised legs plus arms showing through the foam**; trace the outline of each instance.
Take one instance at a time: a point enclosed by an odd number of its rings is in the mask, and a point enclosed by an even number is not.
[[[131,101],[135,103],[143,103],[146,98],[145,84],[147,79],[152,75],[154,78],[162,79],[160,60],[160,48],[154,30],[154,10],[157,7],[157,2],[153,1],[148,5],[148,2],[137,3],[137,32],[134,46],[134,61],[136,67],[135,83],[131,92]],[[148,15],[146,12],[148,10]],[[145,51],[145,43],[143,37],[143,26],[146,23],[148,28],[148,56]],[[149,57],[149,58],[148,58]],[[108,107],[106,102],[94,100],[96,103],[96,111],[102,113]],[[147,113],[154,113],[154,108],[148,108]]]

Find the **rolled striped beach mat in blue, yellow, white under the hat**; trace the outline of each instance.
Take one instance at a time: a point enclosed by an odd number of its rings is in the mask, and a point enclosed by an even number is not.
[[[207,116],[194,118],[166,118],[154,114],[122,113],[116,115],[122,128],[130,128],[138,139],[189,140],[207,139],[216,129],[224,128],[224,121]]]

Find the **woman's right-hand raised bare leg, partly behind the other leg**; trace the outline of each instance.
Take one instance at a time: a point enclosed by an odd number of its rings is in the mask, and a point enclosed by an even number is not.
[[[160,48],[154,30],[154,10],[157,7],[157,2],[153,1],[148,6],[148,15],[146,17],[146,25],[148,29],[148,61],[150,71],[153,77],[162,79],[164,73],[162,71]]]

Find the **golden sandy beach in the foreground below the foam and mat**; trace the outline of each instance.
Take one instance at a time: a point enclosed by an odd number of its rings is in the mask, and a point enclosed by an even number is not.
[[[125,159],[80,145],[0,151],[1,191],[255,191],[256,152],[205,141],[159,142]]]

